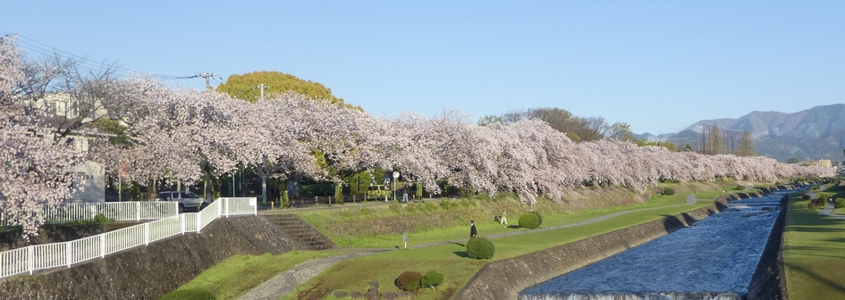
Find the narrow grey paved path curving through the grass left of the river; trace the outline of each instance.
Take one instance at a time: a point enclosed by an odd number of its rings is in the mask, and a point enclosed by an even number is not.
[[[713,200],[706,200],[711,202]],[[621,216],[626,213],[630,212],[642,212],[642,211],[650,211],[655,209],[661,209],[666,207],[676,207],[676,206],[684,206],[689,204],[675,204],[675,205],[667,205],[667,206],[659,206],[659,207],[649,207],[649,208],[641,208],[636,210],[624,211],[624,212],[613,212],[610,214],[603,215],[601,217],[596,217],[593,219],[579,221],[577,223],[566,224],[566,225],[559,225],[559,226],[552,226],[542,229],[533,229],[533,230],[519,230],[519,231],[512,231],[512,232],[505,232],[500,234],[488,235],[485,237],[488,238],[497,238],[497,237],[510,237],[516,236],[521,234],[527,233],[535,233],[540,231],[547,231],[553,229],[565,229],[571,227],[578,227],[584,226],[587,224],[596,223],[599,221],[605,221],[609,219],[613,219],[615,217]],[[518,226],[518,225],[511,225],[511,226]],[[420,245],[413,245],[409,246],[410,248],[423,248],[427,246],[440,246],[446,244],[462,244],[466,243],[468,238],[461,238],[461,239],[453,239],[449,241],[437,242],[437,243],[429,243],[429,244],[420,244]],[[312,279],[315,276],[319,275],[321,272],[325,271],[326,269],[330,268],[337,262],[341,262],[347,258],[368,255],[368,254],[377,254],[386,251],[393,251],[393,248],[388,249],[336,249],[336,251],[351,251],[350,254],[342,254],[332,257],[325,257],[319,258],[316,260],[311,260],[308,262],[302,262],[291,270],[284,271],[282,274],[275,276],[272,279],[267,280],[266,282],[262,283],[258,287],[255,287],[243,296],[238,297],[239,300],[275,300],[284,295],[290,293],[294,288],[300,286],[300,284],[305,283],[308,279]],[[328,250],[334,251],[334,250]]]

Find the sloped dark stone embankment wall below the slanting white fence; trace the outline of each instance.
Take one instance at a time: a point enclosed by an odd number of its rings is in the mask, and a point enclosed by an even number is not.
[[[0,280],[0,299],[157,299],[234,254],[279,254],[297,247],[264,218],[218,219],[199,234]]]

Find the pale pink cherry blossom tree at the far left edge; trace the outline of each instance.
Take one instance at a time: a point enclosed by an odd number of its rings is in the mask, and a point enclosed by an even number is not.
[[[0,218],[21,224],[29,239],[44,222],[40,205],[73,192],[72,166],[83,155],[45,125],[25,68],[11,38],[0,37]]]

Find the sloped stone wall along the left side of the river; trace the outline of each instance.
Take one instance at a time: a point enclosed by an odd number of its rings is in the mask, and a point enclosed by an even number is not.
[[[755,193],[761,195],[763,193]],[[613,254],[662,237],[691,223],[721,212],[730,195],[716,198],[709,207],[685,212],[661,220],[619,229],[562,246],[487,263],[452,298],[467,300],[517,299],[528,287],[598,262]]]

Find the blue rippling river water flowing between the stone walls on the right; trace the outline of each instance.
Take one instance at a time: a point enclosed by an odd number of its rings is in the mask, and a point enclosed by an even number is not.
[[[694,226],[528,287],[520,300],[743,299],[788,192],[731,201]]]

